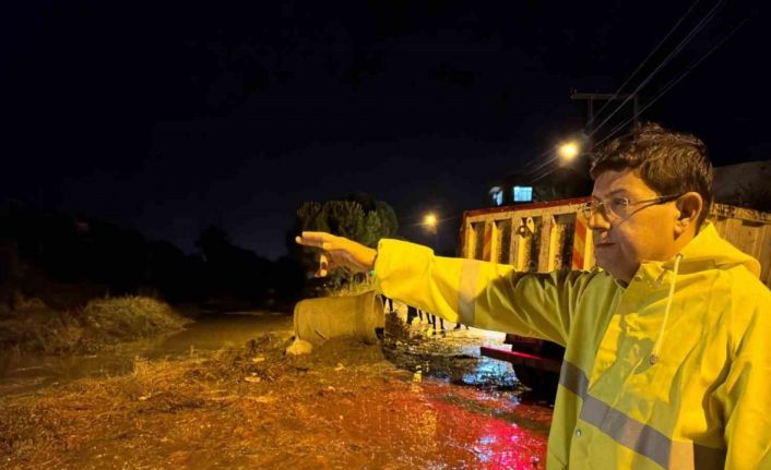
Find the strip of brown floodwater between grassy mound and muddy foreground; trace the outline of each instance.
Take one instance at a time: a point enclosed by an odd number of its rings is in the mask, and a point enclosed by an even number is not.
[[[0,359],[0,396],[34,391],[81,377],[129,373],[137,357],[159,359],[240,347],[263,333],[292,335],[292,315],[273,312],[234,312],[202,315],[171,335],[120,345],[97,354],[56,357],[25,354]]]

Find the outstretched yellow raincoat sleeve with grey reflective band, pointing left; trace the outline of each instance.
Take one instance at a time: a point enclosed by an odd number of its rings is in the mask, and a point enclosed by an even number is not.
[[[451,322],[566,345],[592,274],[517,273],[512,266],[435,256],[422,245],[381,240],[376,289]]]

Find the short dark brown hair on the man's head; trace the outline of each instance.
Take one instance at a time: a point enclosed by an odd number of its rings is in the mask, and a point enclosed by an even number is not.
[[[697,229],[712,205],[712,164],[707,146],[697,136],[643,123],[594,153],[590,173],[596,180],[605,171],[631,169],[660,195],[695,191],[704,200]]]

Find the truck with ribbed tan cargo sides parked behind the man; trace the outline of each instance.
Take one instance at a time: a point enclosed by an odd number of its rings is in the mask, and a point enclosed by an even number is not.
[[[460,251],[466,258],[509,264],[521,272],[590,270],[592,231],[580,208],[589,197],[466,210]],[[714,204],[717,232],[756,257],[760,279],[771,288],[771,213]],[[482,354],[508,361],[535,399],[553,401],[565,350],[553,342],[507,334],[511,350],[482,348]]]

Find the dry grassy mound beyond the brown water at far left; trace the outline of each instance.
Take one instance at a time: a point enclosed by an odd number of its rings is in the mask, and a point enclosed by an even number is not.
[[[167,303],[146,297],[94,299],[64,311],[29,300],[0,314],[0,352],[90,353],[180,329],[187,322]]]

